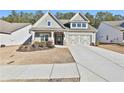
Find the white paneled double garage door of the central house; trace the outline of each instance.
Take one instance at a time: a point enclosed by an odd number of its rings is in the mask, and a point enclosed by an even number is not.
[[[68,35],[68,45],[90,45],[91,35]]]

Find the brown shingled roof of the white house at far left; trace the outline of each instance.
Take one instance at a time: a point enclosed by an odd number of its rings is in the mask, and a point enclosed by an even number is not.
[[[0,20],[0,33],[11,34],[25,26],[30,25],[30,23],[9,23],[3,20]]]

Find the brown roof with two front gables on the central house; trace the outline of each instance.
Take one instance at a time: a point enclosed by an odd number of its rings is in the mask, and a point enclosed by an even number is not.
[[[40,27],[38,26],[41,21],[43,21],[48,15],[50,15],[62,28],[55,28],[55,27]],[[80,17],[80,20],[76,20],[79,22],[89,22],[89,20],[82,15],[81,13],[77,13],[75,16],[73,16],[70,20],[74,20],[76,17]],[[91,25],[88,24],[87,29],[70,29],[70,20],[69,19],[57,19],[54,15],[52,15],[50,12],[47,12],[44,14],[30,29],[30,31],[35,31],[35,32],[50,32],[50,31],[86,31],[86,32],[96,32],[96,29],[92,27]],[[63,29],[64,28],[64,29]]]

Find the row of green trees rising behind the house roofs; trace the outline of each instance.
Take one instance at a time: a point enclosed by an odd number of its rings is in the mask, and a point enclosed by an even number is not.
[[[17,12],[15,10],[12,10],[10,15],[7,17],[2,17],[2,20],[8,21],[8,22],[17,22],[17,23],[32,23],[34,24],[37,20],[40,19],[41,16],[43,16],[43,12],[41,10],[36,11],[33,13],[28,12]],[[57,12],[56,17],[58,19],[71,19],[75,15],[74,12]],[[124,20],[124,16],[122,15],[113,15],[110,12],[97,12],[96,15],[91,15],[90,13],[86,13],[85,16],[90,20],[90,24],[96,28],[98,28],[99,24],[102,21],[114,21],[114,20]]]

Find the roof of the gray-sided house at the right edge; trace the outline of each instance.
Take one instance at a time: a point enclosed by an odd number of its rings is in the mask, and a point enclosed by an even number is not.
[[[124,20],[123,21],[103,21],[102,23],[114,27],[120,31],[124,31]]]

